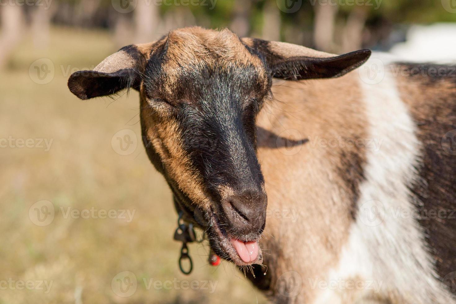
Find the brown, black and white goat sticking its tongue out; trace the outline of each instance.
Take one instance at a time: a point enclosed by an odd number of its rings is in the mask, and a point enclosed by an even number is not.
[[[139,91],[183,218],[276,303],[456,303],[455,78],[370,56],[191,27],[68,87]]]

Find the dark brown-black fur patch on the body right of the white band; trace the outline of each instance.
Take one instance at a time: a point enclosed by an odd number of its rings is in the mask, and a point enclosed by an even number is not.
[[[418,168],[422,180],[410,185],[410,189],[416,196],[412,199],[416,199],[421,217],[418,222],[425,230],[436,270],[451,292],[456,293],[456,273],[450,274],[456,272],[456,90],[448,89],[456,84],[456,77],[431,76],[431,67],[445,66],[407,66],[411,80],[421,84],[423,92],[418,95],[426,96],[429,89],[439,92],[411,111],[418,126],[417,137],[424,147],[423,165]],[[442,85],[445,89],[440,91]]]

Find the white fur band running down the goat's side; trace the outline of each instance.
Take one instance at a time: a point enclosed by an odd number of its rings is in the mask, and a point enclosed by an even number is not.
[[[364,284],[350,293],[343,288],[325,291],[317,303],[455,303],[437,278],[420,224],[410,216],[415,207],[407,185],[418,178],[421,143],[388,62],[374,53],[359,68],[368,137],[382,145],[367,148],[357,219],[338,267],[326,278],[361,279],[377,289]]]

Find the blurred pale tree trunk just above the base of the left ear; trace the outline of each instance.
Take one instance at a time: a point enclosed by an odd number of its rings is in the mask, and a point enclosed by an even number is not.
[[[154,1],[138,1],[133,12],[135,43],[146,43],[160,38],[160,12]]]

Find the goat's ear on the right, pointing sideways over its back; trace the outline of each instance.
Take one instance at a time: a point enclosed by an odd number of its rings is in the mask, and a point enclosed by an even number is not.
[[[340,77],[361,66],[371,55],[370,50],[360,50],[337,56],[286,42],[242,40],[263,54],[274,77],[290,80]]]

